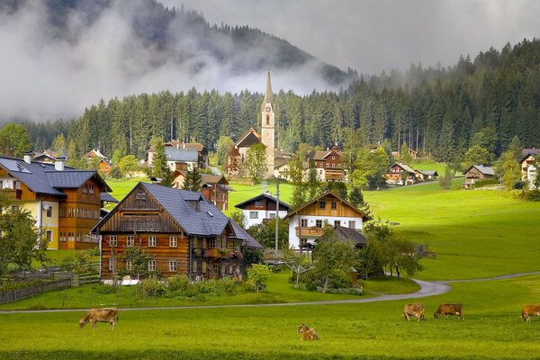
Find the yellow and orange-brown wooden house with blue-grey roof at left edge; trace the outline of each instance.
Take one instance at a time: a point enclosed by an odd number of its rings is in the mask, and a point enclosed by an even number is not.
[[[97,247],[90,230],[99,221],[103,202],[115,200],[96,171],[0,157],[0,187],[17,206],[30,211],[49,249]]]

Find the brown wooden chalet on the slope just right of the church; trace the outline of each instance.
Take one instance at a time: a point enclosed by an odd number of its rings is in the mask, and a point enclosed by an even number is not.
[[[323,182],[346,180],[346,172],[343,168],[343,152],[339,149],[338,144],[334,144],[326,151],[308,152],[306,161],[308,167],[315,166],[317,169],[317,178]]]

